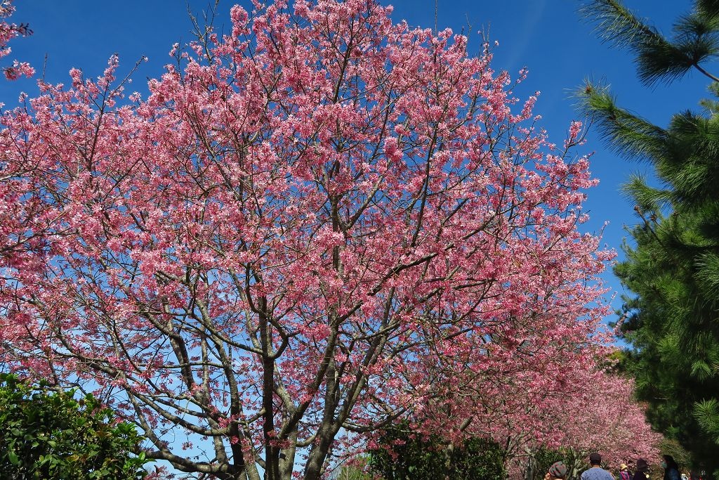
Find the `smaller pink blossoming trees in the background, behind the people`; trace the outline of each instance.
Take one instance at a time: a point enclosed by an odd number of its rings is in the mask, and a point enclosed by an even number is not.
[[[472,352],[462,371],[454,358],[454,370],[435,381],[434,395],[413,412],[414,422],[440,433],[447,445],[461,445],[467,436],[492,438],[503,445],[506,467],[516,478],[545,449],[561,448],[574,471],[592,451],[613,466],[658,459],[662,437],[634,398],[633,381],[608,371],[613,348],[587,344],[586,337],[578,343],[578,330],[554,338],[546,335],[549,326],[539,338],[525,331],[516,353],[505,348],[500,360],[477,361],[476,349],[462,350]],[[493,335],[493,348],[498,338]]]

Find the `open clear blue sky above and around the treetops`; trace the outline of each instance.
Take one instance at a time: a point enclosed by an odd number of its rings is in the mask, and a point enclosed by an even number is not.
[[[697,101],[705,97],[708,81],[698,73],[671,86],[646,89],[636,80],[633,61],[628,52],[601,44],[592,26],[577,14],[578,0],[438,0],[437,26],[464,30],[470,35],[470,50],[480,48],[477,31],[500,45],[494,49],[495,70],[506,69],[516,76],[528,67],[529,76],[518,90],[523,98],[541,91],[535,112],[543,117],[542,126],[552,141],[561,144],[573,119],[581,119],[570,94],[585,78],[605,79],[610,83],[618,103],[661,126],[682,109],[698,109]],[[70,68],[81,68],[86,76],[98,76],[112,53],[120,55],[120,72],[129,71],[146,55],[149,58],[134,78],[134,87],[145,92],[146,78],[159,76],[170,61],[168,51],[174,42],[191,40],[188,8],[198,14],[213,0],[15,0],[14,22],[27,22],[35,34],[14,40],[8,57],[29,61],[52,83],[67,82]],[[229,9],[237,0],[219,0],[218,29],[229,28]],[[248,1],[239,2],[247,4]],[[434,0],[381,0],[393,4],[393,17],[406,19],[413,26],[434,27]],[[677,14],[690,9],[688,0],[626,0],[625,4],[648,17],[669,33]],[[248,8],[249,10],[249,8]],[[200,14],[201,15],[201,14]],[[7,63],[7,59],[5,63]],[[17,104],[19,91],[34,96],[35,81],[0,81],[0,101],[6,107]],[[643,163],[617,158],[590,131],[588,142],[580,150],[595,152],[592,172],[600,186],[588,192],[585,210],[591,220],[584,230],[598,232],[604,222],[604,240],[619,249],[625,236],[624,225],[636,222],[633,205],[623,199],[619,188],[632,171],[647,171]],[[605,275],[613,291],[621,286],[611,273]],[[618,302],[615,302],[618,306]]]

